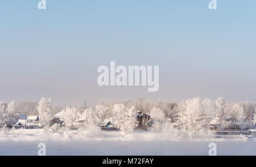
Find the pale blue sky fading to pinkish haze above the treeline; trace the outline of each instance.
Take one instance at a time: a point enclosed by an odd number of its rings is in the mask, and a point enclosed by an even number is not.
[[[256,1],[0,1],[0,100],[88,106],[144,97],[256,101]],[[158,65],[159,90],[97,84],[97,68]]]

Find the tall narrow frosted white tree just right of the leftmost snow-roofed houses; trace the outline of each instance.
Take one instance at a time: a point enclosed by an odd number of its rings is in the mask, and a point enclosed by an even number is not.
[[[39,101],[38,105],[39,121],[46,126],[52,121],[52,101],[46,100],[44,97]]]

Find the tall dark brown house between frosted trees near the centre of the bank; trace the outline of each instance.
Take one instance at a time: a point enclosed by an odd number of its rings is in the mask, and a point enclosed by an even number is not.
[[[150,113],[136,112],[135,114],[137,115],[137,121],[138,121],[137,129],[146,130],[148,127],[152,126]]]

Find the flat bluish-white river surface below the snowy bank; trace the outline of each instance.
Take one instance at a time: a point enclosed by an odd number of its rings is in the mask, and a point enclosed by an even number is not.
[[[86,142],[42,141],[46,155],[208,155],[209,143],[199,141],[173,142]],[[38,155],[36,141],[0,142],[0,155]],[[217,155],[256,155],[256,142],[214,142]]]

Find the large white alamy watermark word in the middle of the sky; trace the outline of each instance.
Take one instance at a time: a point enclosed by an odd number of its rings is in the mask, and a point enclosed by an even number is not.
[[[98,67],[97,72],[101,74],[98,76],[97,83],[100,86],[148,85],[148,92],[157,92],[159,89],[159,66],[154,66],[154,75],[152,70],[152,66],[115,67],[115,61],[110,61],[110,70],[108,66]],[[115,75],[116,73],[118,74]]]

